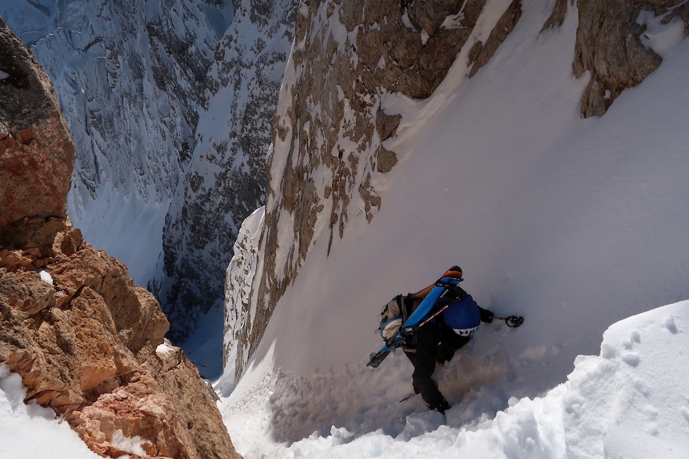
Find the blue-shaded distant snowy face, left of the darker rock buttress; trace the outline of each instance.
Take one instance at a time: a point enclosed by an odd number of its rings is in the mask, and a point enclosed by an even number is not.
[[[145,285],[232,3],[0,1],[0,14],[32,45],[70,125],[72,220]]]

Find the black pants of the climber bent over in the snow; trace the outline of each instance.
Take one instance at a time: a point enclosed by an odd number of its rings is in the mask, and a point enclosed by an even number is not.
[[[442,328],[433,323],[428,323],[419,328],[410,340],[410,345],[416,348],[416,352],[405,350],[409,360],[414,365],[412,381],[414,392],[421,394],[429,405],[429,409],[439,409],[449,406],[444,396],[438,390],[438,385],[433,381],[435,362],[449,361],[457,349],[469,342],[469,337],[460,337],[451,328]],[[444,409],[441,409],[444,411]]]

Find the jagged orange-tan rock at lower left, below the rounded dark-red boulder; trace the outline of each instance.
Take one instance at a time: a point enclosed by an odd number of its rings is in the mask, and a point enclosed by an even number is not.
[[[167,319],[120,261],[81,244],[45,263],[50,284],[20,250],[0,260],[14,270],[0,268],[0,363],[21,374],[27,401],[101,456],[132,453],[116,447],[124,436],[150,457],[238,457],[196,367],[178,348],[156,352]]]

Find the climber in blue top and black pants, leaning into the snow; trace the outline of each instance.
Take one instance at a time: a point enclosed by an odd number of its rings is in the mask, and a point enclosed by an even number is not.
[[[462,279],[462,268],[453,266],[443,277]],[[432,286],[431,286],[432,287]],[[411,313],[428,295],[430,288],[404,297],[404,306]],[[459,285],[451,288],[451,295],[436,301],[429,315],[451,303],[435,317],[404,340],[402,350],[414,365],[414,392],[421,394],[429,409],[444,413],[450,405],[438,390],[431,376],[436,363],[450,361],[455,352],[469,342],[481,322],[492,322],[493,312],[481,308],[471,295]]]

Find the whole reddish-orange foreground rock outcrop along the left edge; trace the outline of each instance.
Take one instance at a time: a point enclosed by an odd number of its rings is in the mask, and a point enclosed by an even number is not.
[[[169,323],[66,215],[74,145],[48,76],[0,20],[0,364],[96,453],[238,457]],[[136,455],[130,457],[138,457]]]

